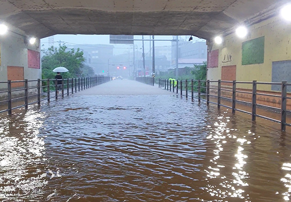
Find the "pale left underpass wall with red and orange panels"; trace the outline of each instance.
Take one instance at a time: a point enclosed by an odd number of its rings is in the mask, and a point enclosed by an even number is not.
[[[37,39],[31,45],[23,31],[8,27],[10,31],[0,35],[0,81],[41,78],[40,40]],[[36,84],[37,82],[29,82],[30,87]],[[12,87],[22,88],[24,83],[15,83]],[[0,89],[7,89],[7,84],[0,84]],[[0,97],[3,96],[6,94],[0,93]]]

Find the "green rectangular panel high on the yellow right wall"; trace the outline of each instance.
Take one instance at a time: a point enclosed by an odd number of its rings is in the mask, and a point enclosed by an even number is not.
[[[242,43],[242,65],[264,63],[265,37]]]

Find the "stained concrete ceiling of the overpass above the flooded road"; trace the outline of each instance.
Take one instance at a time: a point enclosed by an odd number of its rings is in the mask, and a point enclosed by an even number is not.
[[[0,20],[54,34],[195,35],[209,39],[286,0],[0,0]]]

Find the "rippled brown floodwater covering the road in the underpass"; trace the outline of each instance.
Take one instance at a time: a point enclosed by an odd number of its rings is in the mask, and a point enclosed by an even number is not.
[[[74,95],[0,119],[3,202],[286,202],[291,136],[176,95]]]

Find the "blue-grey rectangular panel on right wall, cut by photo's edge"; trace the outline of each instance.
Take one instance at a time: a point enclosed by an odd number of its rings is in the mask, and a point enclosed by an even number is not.
[[[291,60],[273,62],[272,66],[272,82],[291,82]],[[272,85],[273,91],[281,91],[281,86]],[[291,86],[287,87],[287,91],[291,92]]]

